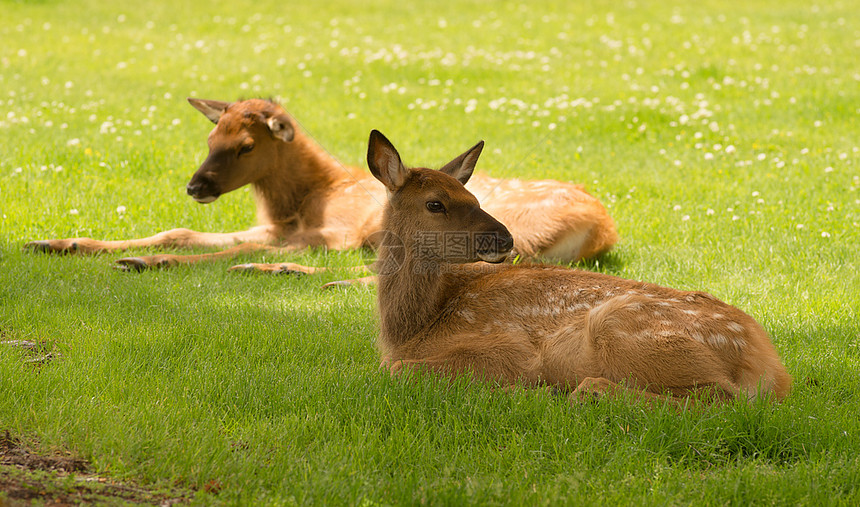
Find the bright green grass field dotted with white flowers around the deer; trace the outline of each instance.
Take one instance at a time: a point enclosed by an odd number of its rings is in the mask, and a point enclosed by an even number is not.
[[[0,344],[0,431],[33,452],[203,504],[860,502],[852,2],[0,10],[0,341],[39,344]],[[253,225],[250,192],[185,195],[211,128],[188,96],[274,97],[347,164],[364,166],[376,128],[407,164],[484,139],[481,171],[585,183],[622,240],[582,268],[742,308],[794,390],[676,413],[404,382],[377,368],[374,290],[318,289],[342,274],[130,274],[120,254],[22,252]]]

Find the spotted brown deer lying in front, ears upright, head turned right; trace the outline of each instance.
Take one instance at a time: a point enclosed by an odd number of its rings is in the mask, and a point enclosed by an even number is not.
[[[765,330],[709,294],[496,264],[515,240],[463,186],[477,158],[408,169],[371,132],[368,165],[389,195],[378,260],[383,367],[572,389],[573,399],[788,394],[791,377]]]

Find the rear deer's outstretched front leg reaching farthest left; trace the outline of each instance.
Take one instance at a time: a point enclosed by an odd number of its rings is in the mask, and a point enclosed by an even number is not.
[[[118,252],[129,248],[165,247],[228,247],[237,243],[271,243],[274,240],[272,226],[259,226],[240,232],[197,232],[191,229],[171,229],[154,236],[138,239],[100,241],[90,238],[50,239],[31,241],[24,245],[25,250],[58,254],[95,254]]]

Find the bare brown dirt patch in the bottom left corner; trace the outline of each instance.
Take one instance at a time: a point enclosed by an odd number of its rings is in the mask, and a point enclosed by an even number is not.
[[[24,505],[163,505],[188,502],[190,491],[148,490],[90,473],[70,452],[31,452],[9,431],[0,433],[0,507]]]

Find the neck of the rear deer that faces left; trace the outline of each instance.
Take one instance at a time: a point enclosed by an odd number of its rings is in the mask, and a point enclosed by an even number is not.
[[[309,199],[349,178],[351,172],[304,132],[277,151],[271,169],[253,183],[260,224],[292,221]]]

